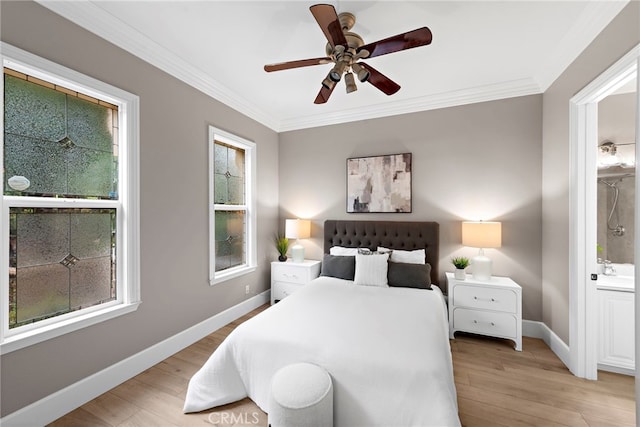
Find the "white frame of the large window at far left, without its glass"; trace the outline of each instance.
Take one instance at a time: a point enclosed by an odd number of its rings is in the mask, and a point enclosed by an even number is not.
[[[0,354],[6,354],[135,311],[140,304],[139,106],[137,95],[2,42],[3,68],[118,106],[118,200],[1,195]],[[3,73],[4,74],[4,73]],[[4,129],[4,78],[0,81]],[[2,133],[4,147],[4,132]],[[4,164],[4,150],[0,150]],[[4,168],[3,168],[4,169]],[[0,171],[4,182],[4,171]],[[4,185],[3,185],[4,188]],[[9,210],[11,207],[116,208],[116,300],[9,329]]]

